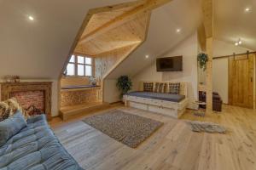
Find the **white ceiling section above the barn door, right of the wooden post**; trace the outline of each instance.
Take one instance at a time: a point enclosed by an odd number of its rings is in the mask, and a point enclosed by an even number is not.
[[[255,0],[214,0],[214,16],[215,38],[232,44],[241,38],[241,47],[256,50]]]

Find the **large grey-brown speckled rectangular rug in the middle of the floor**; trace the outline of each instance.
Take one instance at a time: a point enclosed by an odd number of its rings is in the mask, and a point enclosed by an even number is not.
[[[90,116],[83,122],[131,148],[136,148],[163,125],[163,122],[119,110]]]

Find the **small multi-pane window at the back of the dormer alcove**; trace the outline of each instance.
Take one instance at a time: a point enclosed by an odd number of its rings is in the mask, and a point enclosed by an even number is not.
[[[65,75],[78,76],[78,77],[91,77],[93,76],[92,59],[83,55],[73,54],[67,64]]]

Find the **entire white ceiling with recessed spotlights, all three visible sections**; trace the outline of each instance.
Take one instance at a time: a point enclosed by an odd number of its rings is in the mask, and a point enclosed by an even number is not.
[[[0,0],[0,78],[58,78],[88,10],[131,1]],[[248,14],[246,7],[252,8]],[[214,0],[214,8],[214,37],[230,43],[241,37],[243,47],[256,50],[256,1]],[[30,14],[33,22],[27,19]],[[136,74],[194,33],[200,20],[200,0],[173,0],[155,9],[147,41],[108,78]]]

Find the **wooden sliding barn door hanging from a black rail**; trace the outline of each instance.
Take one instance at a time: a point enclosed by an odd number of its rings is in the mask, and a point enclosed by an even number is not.
[[[236,55],[229,58],[229,103],[253,109],[254,56]]]

